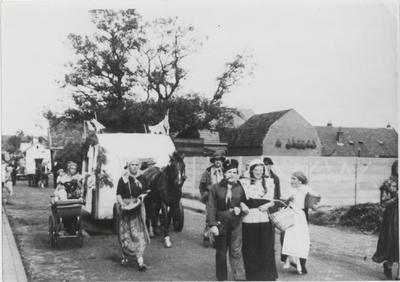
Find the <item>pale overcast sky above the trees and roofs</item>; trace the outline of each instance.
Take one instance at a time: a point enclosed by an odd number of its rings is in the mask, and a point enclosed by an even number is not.
[[[136,8],[144,21],[178,16],[202,49],[181,93],[212,96],[224,64],[247,49],[257,64],[224,98],[257,114],[295,109],[314,126],[398,128],[394,0],[2,2],[2,134],[45,134],[45,108],[69,93],[56,83],[75,60],[69,33],[90,35],[90,9]]]

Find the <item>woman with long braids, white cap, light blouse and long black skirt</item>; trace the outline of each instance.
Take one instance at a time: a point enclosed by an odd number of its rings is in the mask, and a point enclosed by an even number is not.
[[[278,272],[275,264],[275,228],[268,218],[268,210],[273,212],[280,198],[280,189],[272,178],[264,178],[265,165],[261,159],[250,163],[250,179],[240,182],[246,194],[242,210],[247,215],[242,221],[243,262],[246,279],[252,281],[275,281]],[[246,206],[245,206],[246,205]]]

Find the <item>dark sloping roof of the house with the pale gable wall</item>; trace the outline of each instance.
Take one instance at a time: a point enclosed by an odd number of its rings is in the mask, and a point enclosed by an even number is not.
[[[230,147],[262,146],[269,128],[291,110],[254,115],[242,124],[229,140]]]

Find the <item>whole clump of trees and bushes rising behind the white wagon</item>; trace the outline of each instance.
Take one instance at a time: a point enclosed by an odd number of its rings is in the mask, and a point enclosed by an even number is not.
[[[144,132],[169,109],[171,132],[229,125],[238,111],[223,106],[222,97],[251,65],[246,52],[226,64],[211,99],[179,93],[188,70],[184,60],[201,48],[194,28],[177,18],[142,23],[135,10],[90,11],[97,32],[89,38],[70,34],[79,57],[70,63],[65,84],[78,110],[65,115],[81,121],[94,117],[109,131]],[[144,101],[138,91],[146,93]]]

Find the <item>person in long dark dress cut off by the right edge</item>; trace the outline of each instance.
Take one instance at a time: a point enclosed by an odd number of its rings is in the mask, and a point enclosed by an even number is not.
[[[394,263],[399,263],[399,180],[398,161],[392,164],[391,176],[379,188],[380,204],[385,208],[381,232],[379,234],[376,252],[372,260],[383,262],[383,273],[388,279],[392,277]],[[399,280],[399,267],[396,280]]]

